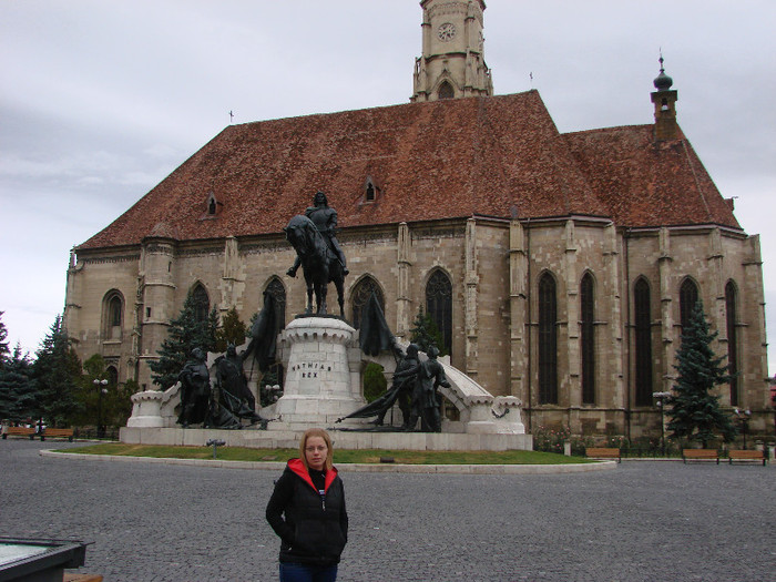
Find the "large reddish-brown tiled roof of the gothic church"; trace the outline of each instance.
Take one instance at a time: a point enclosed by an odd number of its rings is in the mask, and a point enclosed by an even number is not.
[[[154,228],[279,233],[318,190],[340,227],[473,214],[737,226],[690,145],[655,147],[649,132],[561,135],[537,91],[231,125],[79,248],[139,244]],[[365,204],[367,176],[379,192]]]

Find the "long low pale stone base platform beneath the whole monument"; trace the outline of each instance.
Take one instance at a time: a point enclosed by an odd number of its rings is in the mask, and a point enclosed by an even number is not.
[[[277,449],[299,447],[304,430],[289,430],[282,425],[270,430],[137,428],[124,427],[120,440],[125,445],[163,445],[204,447],[211,439],[219,439],[227,447]],[[335,449],[386,449],[435,451],[503,451],[532,450],[531,435],[471,435],[460,432],[386,432],[336,430],[328,428]]]

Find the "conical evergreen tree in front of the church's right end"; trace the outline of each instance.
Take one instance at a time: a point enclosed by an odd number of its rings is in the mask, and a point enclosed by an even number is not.
[[[717,333],[708,328],[703,305],[697,302],[682,334],[674,366],[678,378],[667,399],[668,430],[674,437],[702,442],[704,449],[716,433],[721,433],[725,442],[736,435],[731,417],[719,407],[719,397],[712,394],[716,385],[731,379],[727,366],[722,364],[725,357],[717,357],[712,349],[716,337]]]

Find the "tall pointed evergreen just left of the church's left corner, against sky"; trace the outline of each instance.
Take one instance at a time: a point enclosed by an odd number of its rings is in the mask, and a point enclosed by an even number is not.
[[[49,335],[35,351],[32,369],[38,382],[41,416],[54,427],[72,423],[81,410],[76,399],[81,361],[70,345],[61,316],[57,316]]]

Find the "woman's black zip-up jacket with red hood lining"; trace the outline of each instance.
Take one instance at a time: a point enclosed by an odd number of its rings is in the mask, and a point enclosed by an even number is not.
[[[324,490],[318,492],[300,459],[288,461],[266,511],[269,525],[280,538],[280,562],[339,563],[348,540],[348,514],[337,469],[326,471]]]

